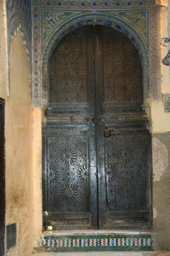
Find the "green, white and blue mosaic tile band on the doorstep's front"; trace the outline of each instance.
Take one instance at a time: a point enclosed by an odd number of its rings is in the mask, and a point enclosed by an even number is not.
[[[153,250],[150,235],[139,236],[45,236],[38,241],[38,248],[46,251],[102,251],[102,250]]]

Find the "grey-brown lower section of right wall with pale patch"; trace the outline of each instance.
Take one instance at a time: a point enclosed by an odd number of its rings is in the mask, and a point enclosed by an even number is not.
[[[170,132],[153,134],[153,241],[170,250]]]

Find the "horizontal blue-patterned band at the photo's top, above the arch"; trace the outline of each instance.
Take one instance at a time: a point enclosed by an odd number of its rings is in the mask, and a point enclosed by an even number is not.
[[[129,7],[142,7],[148,6],[153,1],[150,0],[40,0],[41,7],[47,8],[129,8]]]

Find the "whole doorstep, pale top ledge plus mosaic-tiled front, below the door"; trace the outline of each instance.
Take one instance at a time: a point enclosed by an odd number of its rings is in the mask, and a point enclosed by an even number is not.
[[[134,230],[48,230],[34,252],[153,251],[152,232]]]

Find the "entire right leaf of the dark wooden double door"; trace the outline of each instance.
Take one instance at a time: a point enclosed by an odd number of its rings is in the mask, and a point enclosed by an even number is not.
[[[99,228],[150,228],[149,132],[143,74],[132,42],[96,28]]]

